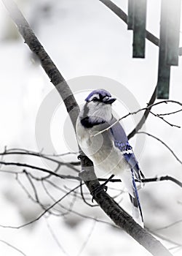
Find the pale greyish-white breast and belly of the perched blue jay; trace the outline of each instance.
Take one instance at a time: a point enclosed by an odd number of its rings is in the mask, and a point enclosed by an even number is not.
[[[119,176],[124,170],[130,168],[122,152],[114,146],[111,133],[106,131],[92,137],[92,135],[104,129],[104,127],[105,124],[99,124],[90,129],[85,129],[78,118],[76,122],[76,137],[84,154],[94,163],[97,174],[97,170],[99,170],[99,173],[111,173]]]

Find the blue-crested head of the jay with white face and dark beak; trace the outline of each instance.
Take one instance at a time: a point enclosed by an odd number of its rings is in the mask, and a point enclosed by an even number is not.
[[[104,89],[94,90],[85,99],[86,103],[81,117],[90,118],[93,123],[99,123],[100,120],[110,121],[112,118],[111,105],[115,100],[116,98],[111,97],[111,94]]]

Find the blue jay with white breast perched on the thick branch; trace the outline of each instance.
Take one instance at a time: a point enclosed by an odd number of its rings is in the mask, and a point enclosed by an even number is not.
[[[92,91],[85,99],[86,103],[77,118],[76,138],[82,151],[92,160],[96,169],[121,178],[130,195],[133,218],[143,226],[143,214],[135,179],[141,181],[141,176],[144,176],[122,125],[116,122],[112,114],[111,105],[115,100],[116,98],[111,97],[104,89]],[[114,126],[110,127],[111,124]],[[106,130],[101,132],[103,129]]]

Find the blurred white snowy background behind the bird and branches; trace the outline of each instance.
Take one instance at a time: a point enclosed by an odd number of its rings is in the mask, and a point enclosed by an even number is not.
[[[127,1],[114,1],[127,12]],[[159,49],[146,40],[146,59],[132,59],[132,32],[127,31],[126,24],[114,15],[98,0],[31,0],[17,1],[31,27],[36,33],[47,53],[57,65],[66,80],[93,75],[111,78],[124,85],[133,94],[139,105],[146,106],[157,83],[157,63]],[[159,37],[159,7],[160,1],[149,1],[147,10],[147,29]],[[0,2],[0,68],[1,68],[1,151],[7,148],[26,148],[39,151],[36,145],[35,126],[36,116],[44,98],[52,91],[52,83],[39,66],[36,59],[23,44],[23,39],[17,33],[15,25],[9,18],[7,11]],[[182,42],[181,42],[182,45]],[[181,57],[182,58],[182,57]],[[170,99],[181,102],[182,72],[181,58],[179,66],[172,67],[170,80]],[[76,99],[79,104],[92,88],[85,84],[84,92],[78,91]],[[114,105],[118,116],[123,116],[126,108],[121,102]],[[177,110],[175,105],[160,105],[156,113],[167,113]],[[122,112],[125,111],[125,112]],[[60,118],[61,115],[61,118]],[[182,126],[182,114],[167,116],[172,124]],[[132,119],[131,119],[132,120]],[[133,122],[124,120],[127,134],[132,130]],[[75,150],[64,140],[63,127],[68,115],[63,105],[52,116],[51,134],[56,153]],[[149,116],[146,122],[146,132],[157,136],[173,149],[182,160],[181,129],[170,127],[165,122]],[[66,134],[68,135],[68,133]],[[74,138],[74,135],[71,135]],[[143,135],[137,135],[138,138]],[[136,136],[135,136],[136,137]],[[72,137],[71,137],[72,138]],[[74,140],[74,139],[73,139]],[[135,145],[136,138],[131,144]],[[46,148],[45,148],[46,151]],[[55,152],[46,152],[53,154]],[[159,141],[145,138],[145,146],[140,156],[140,165],[146,177],[170,175],[182,180],[182,167],[173,154]],[[7,161],[31,163],[44,166],[34,158],[9,156]],[[65,161],[74,160],[76,156],[63,158]],[[47,166],[45,166],[47,167]],[[20,168],[4,167],[1,170],[21,170]],[[63,169],[63,173],[70,170]],[[76,186],[74,181],[60,181],[52,179],[60,187]],[[23,184],[28,182],[23,178]],[[48,201],[41,192],[41,186],[36,184],[42,200]],[[119,184],[112,187],[119,189]],[[31,188],[28,187],[28,189]],[[49,188],[52,189],[52,188]],[[64,192],[50,190],[58,199]],[[15,176],[1,173],[0,178],[0,225],[18,226],[35,219],[42,209],[33,203],[23,192],[15,180]],[[87,190],[85,189],[85,192]],[[116,191],[108,190],[116,194]],[[114,195],[115,195],[114,194]],[[174,243],[163,241],[167,248],[171,248],[174,255],[181,255],[181,248],[175,244],[182,244],[182,222],[164,230],[158,230],[170,223],[182,219],[182,191],[180,187],[170,181],[146,184],[140,191],[141,204],[145,224],[159,236],[168,238]],[[87,195],[88,202],[91,197]],[[74,197],[63,201],[64,207],[69,207]],[[120,197],[120,204],[130,212],[130,202],[127,193]],[[60,206],[60,210],[63,208]],[[25,255],[149,255],[142,246],[136,243],[126,233],[109,225],[110,220],[100,208],[90,208],[82,200],[76,199],[73,212],[63,217],[42,217],[33,225],[20,229],[0,227],[0,240],[6,241],[23,251]],[[84,218],[76,213],[83,214]],[[95,221],[101,219],[108,224]],[[4,256],[20,255],[12,247],[0,241],[0,252]]]

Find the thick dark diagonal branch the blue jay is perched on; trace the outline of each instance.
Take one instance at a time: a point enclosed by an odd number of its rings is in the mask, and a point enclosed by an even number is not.
[[[51,82],[56,86],[60,96],[63,98],[64,103],[66,105],[66,109],[68,113],[74,108],[74,116],[71,117],[71,121],[75,127],[76,117],[79,113],[79,108],[74,99],[74,95],[71,93],[71,89],[69,89],[68,84],[65,82],[63,76],[60,74],[58,69],[55,67],[55,64],[50,59],[50,56],[45,52],[39,40],[36,38],[32,29],[28,25],[27,21],[23,17],[23,14],[18,10],[17,5],[12,0],[2,0],[4,5],[7,7],[12,20],[16,23],[20,34],[25,39],[25,43],[29,46],[29,48],[36,53],[36,56],[41,61],[41,66],[44,71],[47,72],[47,75],[50,77]],[[98,187],[99,181],[95,176],[92,162],[87,157],[82,157],[82,173],[80,177],[87,185],[90,192],[95,187]],[[86,171],[85,169],[89,170]],[[92,178],[91,181],[88,181],[88,174],[91,173]],[[171,256],[170,252],[163,246],[156,238],[151,236],[149,232],[144,230],[140,225],[138,225],[129,214],[127,214],[109,195],[104,191],[98,192],[95,195],[95,200],[103,209],[103,211],[112,219],[112,221],[122,227],[132,238],[134,238],[138,243],[143,245],[152,255],[162,255],[162,256]]]

